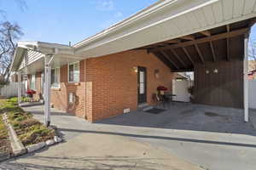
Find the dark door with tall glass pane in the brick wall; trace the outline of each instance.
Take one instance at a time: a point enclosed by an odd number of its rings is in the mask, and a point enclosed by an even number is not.
[[[142,66],[137,67],[137,101],[147,102],[147,69]]]

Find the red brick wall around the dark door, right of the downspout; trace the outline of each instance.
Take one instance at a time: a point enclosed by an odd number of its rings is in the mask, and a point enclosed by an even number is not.
[[[125,108],[137,110],[137,73],[134,66],[147,68],[147,102],[159,85],[172,88],[172,73],[153,54],[126,51],[86,60],[86,113],[90,122],[116,116]],[[160,70],[160,78],[154,70]]]

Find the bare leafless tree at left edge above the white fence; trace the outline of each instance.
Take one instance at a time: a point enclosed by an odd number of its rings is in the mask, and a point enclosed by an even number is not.
[[[17,47],[17,40],[23,33],[20,26],[4,21],[0,24],[0,84],[9,82],[10,65]]]

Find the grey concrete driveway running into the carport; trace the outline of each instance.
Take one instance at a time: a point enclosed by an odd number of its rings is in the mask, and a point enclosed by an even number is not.
[[[25,109],[43,121],[42,106]],[[243,112],[236,109],[180,103],[164,109],[160,114],[134,111],[96,123],[53,111],[52,122],[61,129],[66,143],[4,165],[211,170],[256,166],[255,111],[250,112],[252,121],[244,123]],[[67,163],[71,161],[74,163]],[[90,164],[84,163],[88,161]]]

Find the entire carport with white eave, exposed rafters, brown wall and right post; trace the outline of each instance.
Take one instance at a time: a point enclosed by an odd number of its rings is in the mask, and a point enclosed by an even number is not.
[[[84,57],[147,50],[173,72],[195,71],[195,103],[244,109],[252,0],[159,1],[74,45]]]

